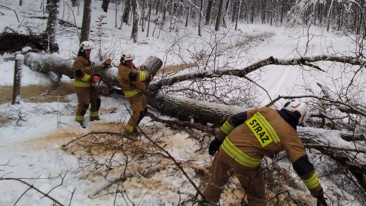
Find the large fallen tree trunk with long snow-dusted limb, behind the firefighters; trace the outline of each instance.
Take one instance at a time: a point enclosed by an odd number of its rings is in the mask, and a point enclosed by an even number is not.
[[[269,59],[272,63],[279,63],[280,65],[290,65],[290,64],[302,64],[306,65],[308,62],[303,62],[302,59],[290,59],[290,60],[273,60]],[[309,59],[309,58],[307,58]],[[310,59],[314,62],[314,58]],[[316,60],[316,59],[315,59]],[[318,56],[318,60],[334,60],[338,62],[346,62],[352,65],[363,64],[362,61],[356,61],[347,58],[338,58],[334,56],[326,57],[326,56]],[[25,59],[25,65],[29,66],[32,70],[40,71],[43,73],[53,71],[54,73],[61,73],[66,76],[72,76],[72,59],[64,59],[57,54],[52,55],[39,55],[39,54],[28,54]],[[234,75],[240,76],[245,75],[248,71],[254,71],[261,67],[261,65],[268,65],[268,62],[260,61],[259,65],[251,65],[249,67],[240,69],[240,70],[226,70],[225,75]],[[143,63],[143,66],[146,66],[146,72],[152,75],[155,75],[158,69],[160,69],[162,62],[160,59],[156,57],[149,57]],[[102,75],[104,81],[109,83],[110,85],[114,85],[119,87],[119,82],[117,80],[117,68],[105,68],[101,64],[97,64],[94,66],[94,70]],[[167,79],[162,79],[156,81],[152,85],[149,85],[146,90],[146,98],[150,106],[156,108],[164,114],[167,114],[171,117],[176,117],[179,119],[190,121],[192,118],[197,122],[201,122],[202,124],[213,124],[214,126],[221,126],[226,119],[234,115],[236,113],[246,111],[247,108],[239,107],[239,106],[225,106],[222,104],[214,104],[209,102],[197,101],[189,98],[178,97],[174,95],[169,95],[167,93],[163,93],[160,91],[160,88],[165,85],[171,85],[178,83],[180,81],[185,80],[193,80],[194,78],[210,78],[217,77],[217,74],[223,75],[223,71],[219,71],[219,73],[210,73],[211,71],[202,71],[202,74],[194,73],[194,74],[183,74],[180,77],[170,77]],[[197,75],[196,75],[197,74]],[[344,106],[350,106],[345,104]],[[161,121],[167,123],[165,120]],[[172,124],[180,124],[179,122],[173,122]],[[190,122],[190,124],[182,123],[181,126],[191,126],[191,124],[195,124]],[[202,126],[202,125],[201,125]],[[202,128],[199,126],[198,128]],[[206,131],[206,130],[203,130]],[[207,128],[207,131],[212,135],[212,128]],[[345,165],[347,169],[349,169],[355,178],[358,181],[359,187],[362,188],[363,191],[366,191],[366,168],[355,166],[355,165],[363,165],[363,162],[366,159],[366,155],[347,150],[336,150],[334,147],[340,148],[350,148],[350,145],[354,146],[353,149],[365,150],[363,146],[356,143],[350,143],[345,141],[345,139],[351,140],[353,135],[348,133],[342,133],[338,130],[325,130],[325,129],[315,129],[315,128],[302,128],[299,127],[298,133],[303,143],[305,144],[316,144],[317,150],[323,152],[325,155],[329,156],[331,159],[338,162],[340,165]],[[344,136],[342,138],[342,136]],[[362,139],[363,135],[359,135],[358,139]],[[330,145],[330,147],[320,147],[319,145]],[[355,165],[350,165],[347,162],[355,162]]]

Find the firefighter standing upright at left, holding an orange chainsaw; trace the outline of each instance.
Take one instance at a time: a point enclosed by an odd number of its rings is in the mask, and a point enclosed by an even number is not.
[[[74,88],[78,96],[78,108],[76,110],[75,121],[79,122],[82,128],[84,125],[84,115],[90,103],[90,121],[100,120],[99,107],[100,98],[96,88],[92,84],[99,81],[98,74],[95,74],[90,62],[90,52],[93,45],[89,41],[80,43],[78,57],[74,61]]]

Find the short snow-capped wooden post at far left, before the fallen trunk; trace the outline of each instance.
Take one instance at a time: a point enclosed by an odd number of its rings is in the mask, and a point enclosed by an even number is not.
[[[22,54],[16,55],[14,64],[13,96],[11,99],[11,104],[20,103],[20,80],[22,79],[23,60],[24,56]]]

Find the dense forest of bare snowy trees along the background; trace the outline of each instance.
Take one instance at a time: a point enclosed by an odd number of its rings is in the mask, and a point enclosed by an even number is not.
[[[122,21],[127,24],[133,2],[110,2],[124,5],[120,12],[123,12]],[[238,21],[271,26],[312,24],[326,26],[328,30],[356,33],[365,29],[365,0],[138,0],[137,3],[141,13],[148,12],[150,7],[154,8],[155,11],[149,13],[161,14],[163,22],[187,20],[195,26],[200,25],[201,21],[205,25],[216,23],[216,30]],[[107,11],[105,0],[102,5],[103,10]]]

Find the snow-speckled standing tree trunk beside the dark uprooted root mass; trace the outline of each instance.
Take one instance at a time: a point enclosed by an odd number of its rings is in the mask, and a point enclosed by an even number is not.
[[[50,49],[56,44],[56,28],[59,22],[59,7],[60,7],[60,0],[52,0],[51,4],[49,5],[49,13],[47,18],[47,26],[46,26],[46,35],[48,37],[48,45],[47,51],[53,52]]]

